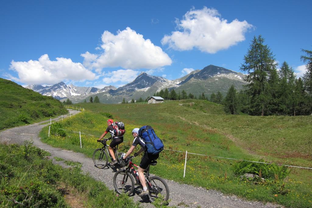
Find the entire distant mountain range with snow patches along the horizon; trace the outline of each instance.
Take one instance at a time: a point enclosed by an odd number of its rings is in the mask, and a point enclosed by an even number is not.
[[[231,85],[237,90],[242,89],[246,84],[243,78],[246,75],[223,67],[209,65],[202,70],[194,70],[188,75],[176,80],[167,80],[160,76],[148,75],[141,73],[133,82],[116,88],[107,86],[103,89],[95,87],[77,87],[74,85],[66,85],[64,82],[57,83],[53,86],[43,87],[41,85],[29,85],[26,88],[39,92],[42,95],[53,96],[61,101],[69,98],[72,102],[83,102],[84,99],[89,102],[90,97],[98,96],[101,103],[120,103],[123,98],[126,100],[145,99],[153,96],[157,91],[167,88],[174,89],[177,93],[183,89],[189,94],[204,93],[210,97],[210,94],[220,91],[223,94]]]

